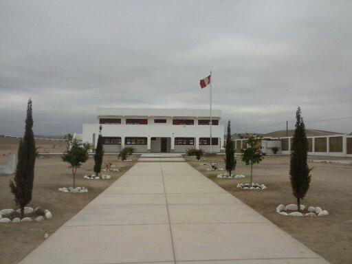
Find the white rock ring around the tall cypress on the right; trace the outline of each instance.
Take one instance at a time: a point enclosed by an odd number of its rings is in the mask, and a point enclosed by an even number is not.
[[[300,210],[305,210],[305,205],[300,205]],[[284,211],[292,211],[292,212],[284,212]],[[291,216],[291,217],[325,217],[329,214],[327,210],[322,210],[319,206],[309,206],[307,209],[308,212],[298,212],[298,206],[294,203],[288,204],[287,206],[282,203],[276,207],[276,212],[281,215]]]

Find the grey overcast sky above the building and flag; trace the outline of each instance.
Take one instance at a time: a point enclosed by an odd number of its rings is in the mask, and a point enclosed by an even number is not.
[[[213,108],[233,132],[352,132],[352,1],[0,0],[0,134],[63,135],[97,107]],[[278,124],[280,123],[280,124]]]

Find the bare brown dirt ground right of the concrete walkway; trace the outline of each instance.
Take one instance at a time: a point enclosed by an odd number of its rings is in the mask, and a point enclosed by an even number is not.
[[[248,183],[249,177],[218,179],[217,175],[225,171],[206,171],[203,163],[209,161],[225,168],[224,157],[205,157],[205,161],[200,162],[188,159],[188,163],[331,263],[352,263],[351,164],[309,162],[309,167],[313,168],[312,179],[302,204],[320,206],[330,214],[327,217],[285,217],[276,213],[276,206],[296,203],[289,183],[289,156],[266,156],[261,164],[254,166],[254,182],[265,184],[267,190],[241,190],[236,185]],[[236,159],[234,173],[250,175],[250,168],[240,157]]]

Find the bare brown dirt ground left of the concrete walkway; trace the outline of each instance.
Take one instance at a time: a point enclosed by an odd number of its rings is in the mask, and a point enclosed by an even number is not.
[[[135,164],[132,162],[117,162],[116,156],[104,156],[105,162],[112,162],[120,172],[109,172],[111,179],[90,180],[84,179],[86,173],[92,173],[94,159],[92,157],[78,169],[76,175],[76,186],[85,186],[88,192],[65,193],[59,192],[59,187],[72,186],[72,170],[61,158],[44,157],[36,159],[33,199],[28,206],[37,206],[48,209],[53,214],[52,219],[40,222],[25,223],[0,223],[0,263],[19,263],[34,248],[44,241],[44,234],[51,235],[54,231],[71,219],[74,214],[81,210],[87,203],[110,186],[126,170]],[[12,176],[0,176],[0,209],[17,208],[13,195],[10,192],[9,181]]]

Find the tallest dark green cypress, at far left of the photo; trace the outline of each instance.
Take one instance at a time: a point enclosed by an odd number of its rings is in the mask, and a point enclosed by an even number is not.
[[[32,100],[28,100],[27,117],[25,118],[25,134],[19,142],[18,161],[14,181],[10,180],[14,201],[21,209],[21,217],[25,206],[32,200],[34,181],[34,165],[36,162],[36,143],[33,134]]]

